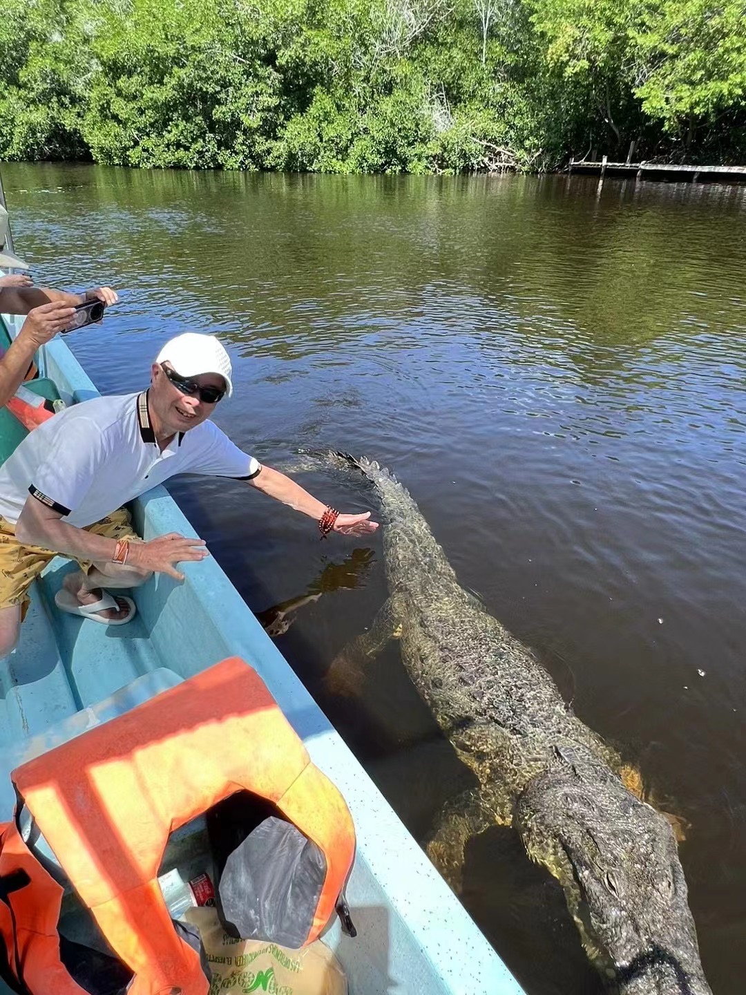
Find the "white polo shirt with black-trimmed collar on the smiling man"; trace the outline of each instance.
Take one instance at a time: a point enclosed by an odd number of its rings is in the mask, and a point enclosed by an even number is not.
[[[0,467],[0,514],[13,524],[33,495],[83,528],[176,474],[248,481],[261,465],[212,422],[161,451],[147,392],[99,397],[34,429]]]

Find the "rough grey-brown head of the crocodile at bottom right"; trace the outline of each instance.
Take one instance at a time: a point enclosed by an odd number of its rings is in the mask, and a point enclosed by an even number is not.
[[[622,995],[711,995],[669,823],[582,747],[518,800],[529,856],[564,889],[589,956]]]

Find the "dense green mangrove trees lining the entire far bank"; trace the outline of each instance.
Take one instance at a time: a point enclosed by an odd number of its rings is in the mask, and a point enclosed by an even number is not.
[[[746,152],[743,0],[5,0],[0,158],[319,172]]]

